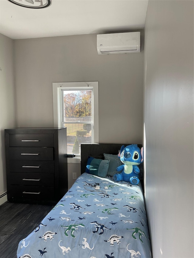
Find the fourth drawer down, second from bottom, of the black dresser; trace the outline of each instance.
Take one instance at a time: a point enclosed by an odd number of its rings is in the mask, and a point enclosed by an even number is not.
[[[34,185],[34,186],[53,186],[54,174],[44,173],[11,173],[11,185]]]

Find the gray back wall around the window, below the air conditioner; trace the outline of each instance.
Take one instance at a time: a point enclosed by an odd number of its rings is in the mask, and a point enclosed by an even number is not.
[[[142,143],[143,51],[98,55],[96,34],[15,40],[15,74],[18,127],[53,126],[53,82],[99,81],[99,142]]]

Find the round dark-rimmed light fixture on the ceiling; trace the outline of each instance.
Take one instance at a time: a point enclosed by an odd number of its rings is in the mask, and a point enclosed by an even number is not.
[[[51,0],[8,0],[9,2],[27,8],[46,8],[51,5]]]

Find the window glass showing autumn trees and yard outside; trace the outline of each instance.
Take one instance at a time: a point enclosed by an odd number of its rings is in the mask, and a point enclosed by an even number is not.
[[[92,90],[63,90],[62,93],[67,150],[69,154],[80,154],[80,144],[92,142]]]

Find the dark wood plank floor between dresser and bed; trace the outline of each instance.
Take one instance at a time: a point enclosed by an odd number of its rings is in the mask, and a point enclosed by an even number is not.
[[[0,206],[0,257],[16,258],[18,243],[54,206],[5,202]]]

